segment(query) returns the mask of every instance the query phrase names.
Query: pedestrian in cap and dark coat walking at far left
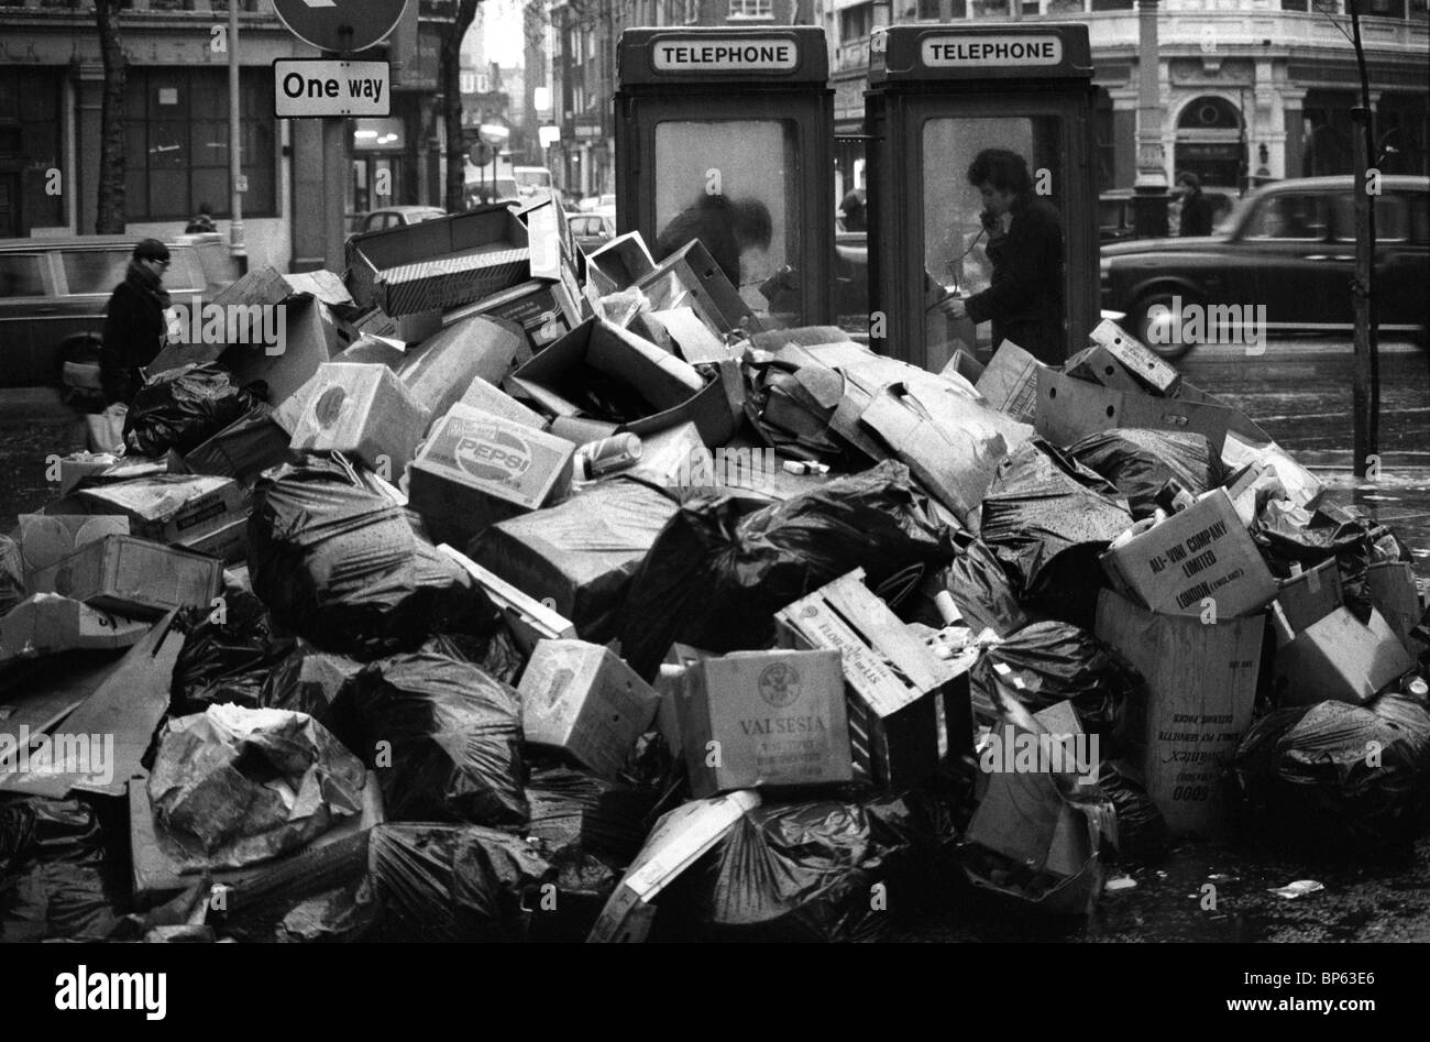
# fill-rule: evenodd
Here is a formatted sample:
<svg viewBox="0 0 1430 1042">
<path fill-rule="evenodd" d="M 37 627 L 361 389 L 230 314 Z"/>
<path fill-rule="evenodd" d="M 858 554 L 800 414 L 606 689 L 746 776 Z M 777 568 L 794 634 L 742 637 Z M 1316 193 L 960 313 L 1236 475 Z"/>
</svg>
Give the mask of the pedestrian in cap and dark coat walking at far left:
<svg viewBox="0 0 1430 1042">
<path fill-rule="evenodd" d="M 124 281 L 104 306 L 104 344 L 100 348 L 100 382 L 109 404 L 129 405 L 144 382 L 142 369 L 164 345 L 164 309 L 169 292 L 163 276 L 169 269 L 169 248 L 159 239 L 142 239 L 134 246 Z"/>
</svg>

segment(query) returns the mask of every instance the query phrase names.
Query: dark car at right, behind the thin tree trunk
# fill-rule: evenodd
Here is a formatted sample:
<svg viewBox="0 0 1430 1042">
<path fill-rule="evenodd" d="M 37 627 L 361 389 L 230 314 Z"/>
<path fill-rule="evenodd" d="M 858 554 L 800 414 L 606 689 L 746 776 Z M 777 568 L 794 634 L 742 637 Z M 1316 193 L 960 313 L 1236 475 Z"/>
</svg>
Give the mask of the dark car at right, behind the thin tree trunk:
<svg viewBox="0 0 1430 1042">
<path fill-rule="evenodd" d="M 1386 176 L 1376 202 L 1376 296 L 1381 335 L 1426 342 L 1430 328 L 1430 177 Z M 1103 246 L 1103 308 L 1158 345 L 1155 305 L 1266 306 L 1267 332 L 1350 335 L 1356 262 L 1350 176 L 1281 180 L 1253 192 L 1214 235 Z M 1164 312 L 1155 312 L 1161 315 Z M 1254 313 L 1254 312 L 1253 312 Z"/>
</svg>

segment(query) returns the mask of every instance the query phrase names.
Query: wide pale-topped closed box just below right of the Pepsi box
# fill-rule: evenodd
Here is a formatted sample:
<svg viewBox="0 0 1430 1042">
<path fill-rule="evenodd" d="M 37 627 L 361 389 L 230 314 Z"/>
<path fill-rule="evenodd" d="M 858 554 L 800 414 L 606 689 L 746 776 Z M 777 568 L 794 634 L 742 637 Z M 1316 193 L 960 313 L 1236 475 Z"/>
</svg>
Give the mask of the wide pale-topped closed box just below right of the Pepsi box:
<svg viewBox="0 0 1430 1042">
<path fill-rule="evenodd" d="M 559 507 L 493 524 L 475 560 L 572 620 L 585 636 L 611 621 L 631 575 L 678 511 L 672 497 L 612 478 Z"/>
</svg>

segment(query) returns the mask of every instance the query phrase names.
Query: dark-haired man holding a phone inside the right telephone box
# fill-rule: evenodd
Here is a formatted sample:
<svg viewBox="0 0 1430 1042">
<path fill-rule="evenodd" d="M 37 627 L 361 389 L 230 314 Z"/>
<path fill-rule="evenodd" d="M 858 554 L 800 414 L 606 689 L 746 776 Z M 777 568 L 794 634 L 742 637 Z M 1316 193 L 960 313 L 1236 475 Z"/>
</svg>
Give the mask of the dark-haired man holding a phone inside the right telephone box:
<svg viewBox="0 0 1430 1042">
<path fill-rule="evenodd" d="M 1032 192 L 1028 163 L 1007 149 L 984 149 L 968 167 L 982 195 L 992 281 L 938 306 L 951 318 L 992 322 L 992 345 L 1012 341 L 1040 362 L 1067 361 L 1062 335 L 1062 220 Z"/>
</svg>

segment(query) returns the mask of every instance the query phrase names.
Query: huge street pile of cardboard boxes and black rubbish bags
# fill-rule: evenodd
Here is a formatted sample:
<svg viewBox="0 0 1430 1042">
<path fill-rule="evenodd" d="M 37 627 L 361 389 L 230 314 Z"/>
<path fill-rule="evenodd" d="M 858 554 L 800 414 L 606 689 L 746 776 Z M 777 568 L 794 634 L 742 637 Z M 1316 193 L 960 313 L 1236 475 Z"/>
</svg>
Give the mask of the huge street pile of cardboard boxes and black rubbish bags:
<svg viewBox="0 0 1430 1042">
<path fill-rule="evenodd" d="M 1407 548 L 1115 325 L 931 374 L 543 199 L 217 303 L 280 349 L 0 537 L 0 939 L 858 940 L 1430 823 Z"/>
</svg>

